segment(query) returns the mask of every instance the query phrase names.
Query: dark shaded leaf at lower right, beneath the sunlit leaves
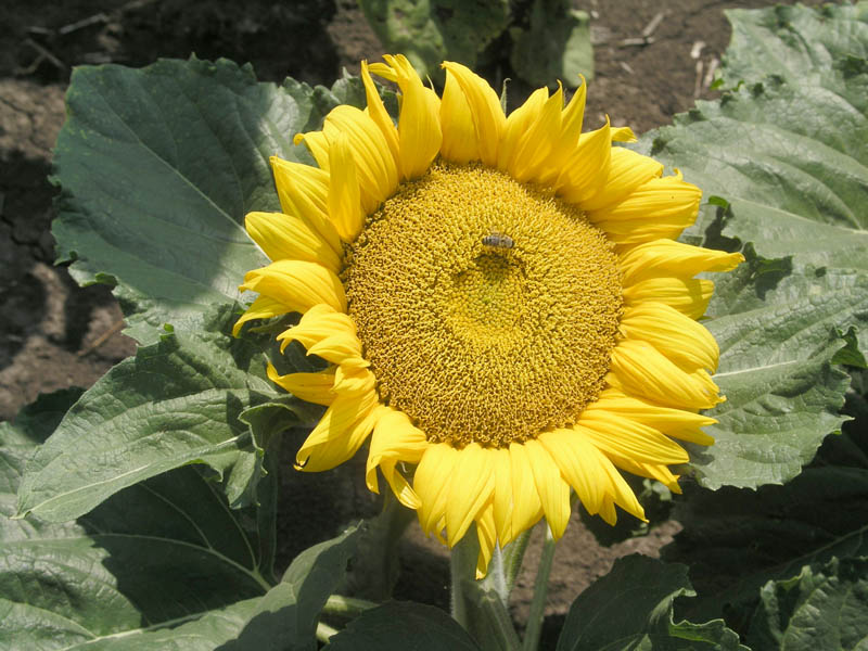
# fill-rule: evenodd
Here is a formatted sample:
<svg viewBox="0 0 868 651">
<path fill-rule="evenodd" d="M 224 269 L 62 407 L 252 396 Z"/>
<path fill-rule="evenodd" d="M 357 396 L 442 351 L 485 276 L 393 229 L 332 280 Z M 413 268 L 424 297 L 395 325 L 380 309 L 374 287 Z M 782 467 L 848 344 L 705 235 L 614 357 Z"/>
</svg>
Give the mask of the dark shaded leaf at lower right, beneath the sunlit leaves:
<svg viewBox="0 0 868 651">
<path fill-rule="evenodd" d="M 700 595 L 682 614 L 726 613 L 744 631 L 769 580 L 835 557 L 868 556 L 868 404 L 851 392 L 845 412 L 856 418 L 844 433 L 828 437 L 810 467 L 783 486 L 686 486 L 675 510 L 684 529 L 663 550 L 666 560 L 690 565 Z"/>
</svg>

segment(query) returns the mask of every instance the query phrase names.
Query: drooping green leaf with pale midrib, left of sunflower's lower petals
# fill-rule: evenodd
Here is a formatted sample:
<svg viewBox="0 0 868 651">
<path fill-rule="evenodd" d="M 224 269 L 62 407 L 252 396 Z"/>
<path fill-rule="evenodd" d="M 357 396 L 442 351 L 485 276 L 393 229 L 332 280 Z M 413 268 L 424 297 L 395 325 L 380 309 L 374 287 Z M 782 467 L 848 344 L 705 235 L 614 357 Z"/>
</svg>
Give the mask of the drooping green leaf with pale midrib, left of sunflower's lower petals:
<svg viewBox="0 0 868 651">
<path fill-rule="evenodd" d="M 232 315 L 221 317 L 227 328 Z M 188 463 L 206 463 L 224 477 L 233 507 L 252 503 L 269 443 L 264 431 L 279 433 L 310 413 L 279 394 L 264 367 L 253 345 L 222 332 L 166 333 L 140 348 L 99 380 L 34 455 L 18 515 L 73 520 L 122 488 Z M 267 427 L 251 411 L 266 406 Z"/>
</svg>

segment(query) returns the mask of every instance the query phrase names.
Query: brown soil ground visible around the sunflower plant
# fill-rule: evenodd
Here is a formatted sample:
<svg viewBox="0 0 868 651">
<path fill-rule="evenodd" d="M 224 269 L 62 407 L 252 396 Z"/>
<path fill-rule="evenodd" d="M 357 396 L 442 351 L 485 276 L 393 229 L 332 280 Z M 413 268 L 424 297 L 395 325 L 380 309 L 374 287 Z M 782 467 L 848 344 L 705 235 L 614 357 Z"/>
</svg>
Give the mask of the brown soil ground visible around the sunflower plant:
<svg viewBox="0 0 868 651">
<path fill-rule="evenodd" d="M 596 77 L 586 125 L 596 128 L 608 114 L 613 125 L 641 133 L 669 124 L 697 98 L 713 98 L 709 84 L 730 34 L 723 11 L 768 4 L 575 1 L 592 17 Z M 648 42 L 629 44 L 659 13 L 662 21 Z M 71 68 L 105 62 L 142 66 L 191 52 L 250 61 L 263 80 L 290 75 L 328 86 L 342 67 L 357 73 L 360 59 L 378 60 L 383 49 L 353 0 L 5 0 L 0 7 L 0 420 L 14 418 L 39 393 L 90 386 L 135 353 L 133 342 L 120 333 L 123 315 L 111 292 L 79 288 L 64 267 L 53 266 L 49 229 L 55 191 L 48 177 Z M 510 76 L 508 69 L 498 74 Z M 510 87 L 513 100 L 526 92 L 521 82 Z M 279 570 L 343 523 L 376 513 L 375 496 L 358 480 L 362 474 L 358 463 L 319 475 L 283 473 Z M 656 556 L 678 531 L 667 522 L 647 537 L 601 547 L 577 515 L 573 520 L 558 545 L 542 648 L 553 647 L 571 601 L 615 558 L 634 551 Z M 513 593 L 519 624 L 529 603 L 536 538 L 538 531 Z M 413 524 L 400 558 L 396 597 L 448 608 L 444 548 Z"/>
</svg>

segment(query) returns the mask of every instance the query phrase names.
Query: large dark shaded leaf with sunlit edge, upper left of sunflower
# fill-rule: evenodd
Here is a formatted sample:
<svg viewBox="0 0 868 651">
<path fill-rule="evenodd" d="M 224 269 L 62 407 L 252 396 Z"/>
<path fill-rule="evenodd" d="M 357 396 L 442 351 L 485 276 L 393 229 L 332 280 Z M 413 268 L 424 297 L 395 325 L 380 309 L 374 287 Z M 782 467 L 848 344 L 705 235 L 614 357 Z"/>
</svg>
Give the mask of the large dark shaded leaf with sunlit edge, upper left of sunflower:
<svg viewBox="0 0 868 651">
<path fill-rule="evenodd" d="M 357 103 L 359 86 L 258 84 L 226 60 L 76 68 L 54 152 L 59 258 L 80 283 L 117 284 L 141 342 L 165 322 L 197 327 L 268 261 L 243 219 L 280 209 L 269 156 L 311 162 L 293 136 Z"/>
</svg>

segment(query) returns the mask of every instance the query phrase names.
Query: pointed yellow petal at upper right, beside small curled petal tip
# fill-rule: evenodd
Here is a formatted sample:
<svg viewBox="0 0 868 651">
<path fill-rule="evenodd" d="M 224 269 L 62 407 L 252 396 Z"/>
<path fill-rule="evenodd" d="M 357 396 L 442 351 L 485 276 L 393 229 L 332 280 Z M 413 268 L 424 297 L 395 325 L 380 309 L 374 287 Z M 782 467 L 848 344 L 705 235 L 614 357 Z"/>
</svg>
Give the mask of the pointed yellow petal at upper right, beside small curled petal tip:
<svg viewBox="0 0 868 651">
<path fill-rule="evenodd" d="M 602 191 L 612 159 L 612 138 L 609 117 L 596 131 L 583 133 L 578 145 L 566 159 L 556 188 L 564 200 L 582 205 Z"/>
</svg>

